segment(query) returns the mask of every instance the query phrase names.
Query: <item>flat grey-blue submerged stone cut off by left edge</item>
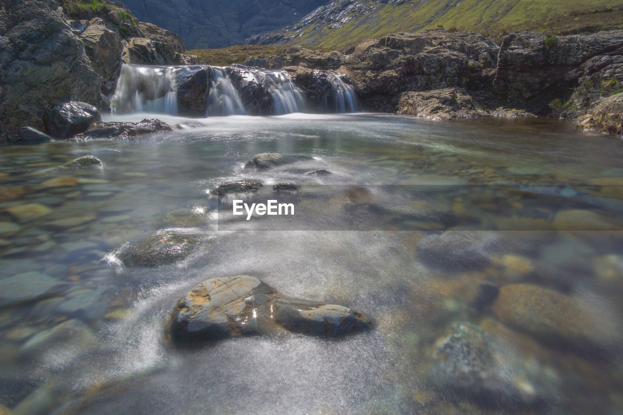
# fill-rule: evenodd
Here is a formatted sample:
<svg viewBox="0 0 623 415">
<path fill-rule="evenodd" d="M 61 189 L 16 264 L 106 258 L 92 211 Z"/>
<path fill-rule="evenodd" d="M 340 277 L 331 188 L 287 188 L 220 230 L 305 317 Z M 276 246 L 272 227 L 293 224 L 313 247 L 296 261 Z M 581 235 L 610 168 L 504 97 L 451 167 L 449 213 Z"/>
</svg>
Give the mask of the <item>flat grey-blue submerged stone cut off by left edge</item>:
<svg viewBox="0 0 623 415">
<path fill-rule="evenodd" d="M 60 281 L 39 272 L 0 279 L 0 307 L 11 307 L 54 295 Z"/>
</svg>

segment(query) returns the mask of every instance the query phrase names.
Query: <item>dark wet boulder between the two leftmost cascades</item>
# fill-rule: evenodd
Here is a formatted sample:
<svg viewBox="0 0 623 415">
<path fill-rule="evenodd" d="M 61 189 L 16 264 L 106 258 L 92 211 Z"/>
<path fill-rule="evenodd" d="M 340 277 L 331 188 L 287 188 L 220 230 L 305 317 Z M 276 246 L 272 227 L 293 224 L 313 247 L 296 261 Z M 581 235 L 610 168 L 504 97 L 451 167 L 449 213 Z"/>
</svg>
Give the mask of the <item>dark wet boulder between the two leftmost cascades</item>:
<svg viewBox="0 0 623 415">
<path fill-rule="evenodd" d="M 178 84 L 178 113 L 189 117 L 205 117 L 210 90 L 210 67 L 187 66 L 176 71 Z"/>
</svg>

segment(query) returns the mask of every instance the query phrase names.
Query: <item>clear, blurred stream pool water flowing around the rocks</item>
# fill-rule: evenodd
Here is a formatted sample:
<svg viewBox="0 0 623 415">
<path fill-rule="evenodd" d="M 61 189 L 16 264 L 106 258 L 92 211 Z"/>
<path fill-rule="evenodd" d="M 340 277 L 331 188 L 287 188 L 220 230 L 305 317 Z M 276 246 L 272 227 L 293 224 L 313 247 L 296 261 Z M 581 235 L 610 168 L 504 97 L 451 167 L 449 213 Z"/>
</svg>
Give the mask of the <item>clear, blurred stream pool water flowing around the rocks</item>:
<svg viewBox="0 0 623 415">
<path fill-rule="evenodd" d="M 534 247 L 521 253 L 520 264 L 527 260 L 545 272 L 525 280 L 518 275 L 521 266 L 500 260 L 499 251 L 484 252 L 492 265 L 478 271 L 423 264 L 416 246 L 437 229 L 436 219 L 419 219 L 420 230 L 412 231 L 385 225 L 369 231 L 291 231 L 278 222 L 270 231 L 222 231 L 207 194 L 240 178 L 259 179 L 265 189 L 283 181 L 353 185 L 366 201 L 385 209 L 422 211 L 439 205 L 459 216 L 493 212 L 546 224 L 553 223 L 562 198 L 574 209 L 605 218 L 614 229 L 623 212 L 616 186 L 623 178 L 620 140 L 584 135 L 572 123 L 547 119 L 428 122 L 373 114 L 162 119 L 179 129 L 131 141 L 0 150 L 1 278 L 39 272 L 57 282 L 44 298 L 0 308 L 3 406 L 42 414 L 623 411 L 623 368 L 616 348 L 606 361 L 560 350 L 470 305 L 483 280 L 530 282 L 588 298 L 601 307 L 602 320 L 608 320 L 604 325 L 614 322 L 619 328 L 621 232 L 495 231 L 485 225 L 502 236 L 502 245 L 521 240 Z M 243 169 L 253 155 L 267 151 L 314 160 L 263 173 Z M 97 156 L 105 168 L 45 171 L 82 155 Z M 319 168 L 333 174 L 305 175 Z M 432 193 L 409 204 L 373 190 L 389 184 L 427 185 Z M 507 194 L 457 196 L 444 190 L 450 184 L 463 190 L 492 186 L 494 192 L 498 185 L 555 184 L 571 193 L 536 206 Z M 369 194 L 361 191 L 366 186 Z M 586 198 L 577 196 L 578 189 Z M 331 194 L 328 201 L 309 201 L 308 212 L 343 209 L 349 200 L 350 193 Z M 44 207 L 38 208 L 40 216 L 20 221 L 11 213 L 34 203 Z M 178 209 L 186 209 L 186 216 L 172 221 L 169 213 Z M 207 242 L 176 265 L 127 269 L 115 264 L 119 246 L 169 227 L 192 228 Z M 294 335 L 226 340 L 192 351 L 169 346 L 164 327 L 181 295 L 202 280 L 239 274 L 255 275 L 286 295 L 353 307 L 373 317 L 377 327 L 338 341 Z M 10 300 L 6 295 L 0 293 L 4 304 Z M 72 319 L 85 327 L 78 324 L 54 341 L 34 341 L 37 333 Z M 427 371 L 435 341 L 452 322 L 465 321 L 516 350 L 526 370 L 551 374 L 556 392 L 530 408 L 502 404 L 500 409 L 495 399 L 483 403 L 488 398 L 456 398 L 433 389 Z"/>
</svg>

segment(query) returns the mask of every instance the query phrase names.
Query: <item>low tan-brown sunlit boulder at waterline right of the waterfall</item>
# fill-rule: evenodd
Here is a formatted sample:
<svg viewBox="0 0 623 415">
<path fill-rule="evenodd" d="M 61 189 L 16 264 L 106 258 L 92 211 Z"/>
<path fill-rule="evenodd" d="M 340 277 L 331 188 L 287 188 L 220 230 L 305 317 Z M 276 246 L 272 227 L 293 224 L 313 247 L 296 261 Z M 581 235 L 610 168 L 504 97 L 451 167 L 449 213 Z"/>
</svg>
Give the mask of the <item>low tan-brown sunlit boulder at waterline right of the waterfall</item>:
<svg viewBox="0 0 623 415">
<path fill-rule="evenodd" d="M 486 115 L 473 102 L 464 88 L 446 88 L 425 92 L 403 92 L 400 95 L 396 113 L 417 115 L 432 120 L 448 118 L 472 118 Z"/>
</svg>

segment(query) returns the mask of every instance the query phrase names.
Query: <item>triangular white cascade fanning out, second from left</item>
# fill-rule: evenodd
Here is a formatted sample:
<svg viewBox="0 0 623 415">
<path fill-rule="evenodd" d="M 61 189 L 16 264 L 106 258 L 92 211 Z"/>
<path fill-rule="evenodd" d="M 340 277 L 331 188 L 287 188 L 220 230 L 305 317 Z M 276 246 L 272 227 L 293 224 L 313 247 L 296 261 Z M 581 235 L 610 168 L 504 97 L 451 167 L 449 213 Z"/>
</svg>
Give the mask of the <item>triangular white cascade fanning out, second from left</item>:
<svg viewBox="0 0 623 415">
<path fill-rule="evenodd" d="M 220 67 L 211 68 L 210 92 L 207 97 L 209 115 L 245 115 L 240 95 L 225 72 Z"/>
</svg>

